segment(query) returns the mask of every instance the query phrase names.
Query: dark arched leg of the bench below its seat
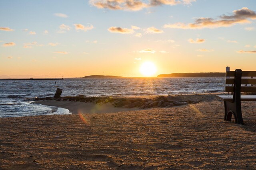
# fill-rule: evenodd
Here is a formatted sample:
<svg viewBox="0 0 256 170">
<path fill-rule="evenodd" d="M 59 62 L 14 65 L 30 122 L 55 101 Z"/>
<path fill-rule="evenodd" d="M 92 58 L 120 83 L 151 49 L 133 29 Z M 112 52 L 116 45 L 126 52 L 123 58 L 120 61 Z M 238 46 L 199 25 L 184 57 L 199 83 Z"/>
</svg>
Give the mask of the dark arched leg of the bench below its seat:
<svg viewBox="0 0 256 170">
<path fill-rule="evenodd" d="M 240 103 L 224 101 L 224 107 L 225 107 L 225 115 L 224 115 L 225 121 L 231 121 L 231 117 L 232 115 L 234 115 L 236 123 L 240 123 L 242 125 L 244 124 Z"/>
</svg>

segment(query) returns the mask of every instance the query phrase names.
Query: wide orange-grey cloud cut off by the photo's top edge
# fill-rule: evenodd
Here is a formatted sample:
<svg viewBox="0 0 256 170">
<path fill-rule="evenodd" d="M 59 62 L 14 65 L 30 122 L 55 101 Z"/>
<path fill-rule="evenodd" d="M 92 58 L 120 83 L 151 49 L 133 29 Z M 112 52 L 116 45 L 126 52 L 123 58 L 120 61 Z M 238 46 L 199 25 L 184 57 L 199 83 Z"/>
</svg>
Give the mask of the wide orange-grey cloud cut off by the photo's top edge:
<svg viewBox="0 0 256 170">
<path fill-rule="evenodd" d="M 89 3 L 97 8 L 105 8 L 109 10 L 130 10 L 138 11 L 143 8 L 150 8 L 153 6 L 162 5 L 178 5 L 178 4 L 191 4 L 196 0 L 90 0 Z"/>
</svg>

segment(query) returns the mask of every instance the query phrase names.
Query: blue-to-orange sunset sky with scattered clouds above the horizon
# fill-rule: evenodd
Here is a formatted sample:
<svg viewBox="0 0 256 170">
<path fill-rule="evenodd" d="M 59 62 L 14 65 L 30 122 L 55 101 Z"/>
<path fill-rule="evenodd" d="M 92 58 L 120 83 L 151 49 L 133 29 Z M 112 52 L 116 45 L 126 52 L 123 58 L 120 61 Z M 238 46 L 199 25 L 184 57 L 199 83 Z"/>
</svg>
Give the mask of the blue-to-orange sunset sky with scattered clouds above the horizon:
<svg viewBox="0 0 256 170">
<path fill-rule="evenodd" d="M 0 78 L 256 70 L 255 37 L 256 0 L 0 0 Z"/>
</svg>

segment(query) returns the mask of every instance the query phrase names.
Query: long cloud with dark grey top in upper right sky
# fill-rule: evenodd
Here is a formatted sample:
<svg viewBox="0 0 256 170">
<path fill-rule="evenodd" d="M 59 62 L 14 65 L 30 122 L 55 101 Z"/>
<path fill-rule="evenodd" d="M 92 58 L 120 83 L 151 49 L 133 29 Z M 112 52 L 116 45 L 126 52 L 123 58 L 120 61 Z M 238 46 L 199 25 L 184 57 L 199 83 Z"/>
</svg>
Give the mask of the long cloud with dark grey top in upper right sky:
<svg viewBox="0 0 256 170">
<path fill-rule="evenodd" d="M 194 23 L 174 23 L 165 24 L 165 28 L 179 28 L 179 29 L 202 29 L 202 28 L 218 28 L 230 27 L 235 24 L 251 23 L 248 19 L 255 20 L 256 13 L 246 7 L 240 10 L 234 10 L 233 15 L 222 15 L 219 19 L 213 18 L 198 18 Z"/>
</svg>

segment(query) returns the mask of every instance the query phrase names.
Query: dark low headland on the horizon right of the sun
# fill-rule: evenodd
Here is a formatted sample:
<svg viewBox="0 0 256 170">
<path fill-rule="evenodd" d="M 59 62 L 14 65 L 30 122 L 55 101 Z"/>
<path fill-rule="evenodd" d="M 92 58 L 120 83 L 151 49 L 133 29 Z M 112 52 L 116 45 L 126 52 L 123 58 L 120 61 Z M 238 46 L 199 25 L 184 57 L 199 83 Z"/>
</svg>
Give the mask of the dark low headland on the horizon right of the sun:
<svg viewBox="0 0 256 170">
<path fill-rule="evenodd" d="M 159 74 L 157 77 L 224 77 L 226 72 L 188 72 L 188 73 L 172 73 Z"/>
</svg>

